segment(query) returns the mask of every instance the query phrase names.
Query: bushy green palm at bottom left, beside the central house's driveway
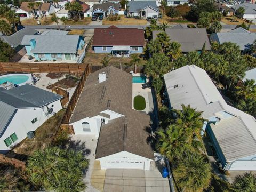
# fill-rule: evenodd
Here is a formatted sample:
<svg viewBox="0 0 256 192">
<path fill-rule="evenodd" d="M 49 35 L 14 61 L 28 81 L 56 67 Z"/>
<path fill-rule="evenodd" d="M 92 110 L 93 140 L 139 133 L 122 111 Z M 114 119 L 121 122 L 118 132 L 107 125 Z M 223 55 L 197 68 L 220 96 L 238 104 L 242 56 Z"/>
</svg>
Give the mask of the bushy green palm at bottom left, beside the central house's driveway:
<svg viewBox="0 0 256 192">
<path fill-rule="evenodd" d="M 88 165 L 89 161 L 82 151 L 48 146 L 28 158 L 26 171 L 29 181 L 38 189 L 82 191 L 86 188 L 82 181 L 83 171 Z"/>
</svg>

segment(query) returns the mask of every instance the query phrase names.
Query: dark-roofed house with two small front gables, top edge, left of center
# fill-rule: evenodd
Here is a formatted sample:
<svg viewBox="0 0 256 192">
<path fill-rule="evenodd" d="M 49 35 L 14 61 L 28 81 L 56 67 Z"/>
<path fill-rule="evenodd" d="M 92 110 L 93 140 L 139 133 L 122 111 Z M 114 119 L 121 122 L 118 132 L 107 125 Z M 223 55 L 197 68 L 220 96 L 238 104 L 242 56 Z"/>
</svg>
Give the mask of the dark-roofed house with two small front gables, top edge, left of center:
<svg viewBox="0 0 256 192">
<path fill-rule="evenodd" d="M 102 4 L 94 4 L 92 15 L 103 15 L 103 17 L 107 17 L 108 15 L 119 14 L 119 3 L 102 3 Z"/>
</svg>

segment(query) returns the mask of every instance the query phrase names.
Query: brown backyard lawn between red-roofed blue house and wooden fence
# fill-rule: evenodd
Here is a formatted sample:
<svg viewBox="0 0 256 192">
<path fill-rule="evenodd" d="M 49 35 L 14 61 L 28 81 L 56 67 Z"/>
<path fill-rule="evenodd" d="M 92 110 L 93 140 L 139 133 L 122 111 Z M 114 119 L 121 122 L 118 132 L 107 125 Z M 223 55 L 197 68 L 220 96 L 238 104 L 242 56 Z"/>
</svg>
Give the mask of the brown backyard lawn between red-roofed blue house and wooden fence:
<svg viewBox="0 0 256 192">
<path fill-rule="evenodd" d="M 130 63 L 131 58 L 113 58 L 108 53 L 87 53 L 86 57 L 84 58 L 84 63 L 90 64 L 90 65 L 102 65 L 100 62 L 104 57 L 107 57 L 109 59 L 109 65 L 119 65 Z M 145 64 L 146 60 L 141 60 L 141 65 Z"/>
</svg>

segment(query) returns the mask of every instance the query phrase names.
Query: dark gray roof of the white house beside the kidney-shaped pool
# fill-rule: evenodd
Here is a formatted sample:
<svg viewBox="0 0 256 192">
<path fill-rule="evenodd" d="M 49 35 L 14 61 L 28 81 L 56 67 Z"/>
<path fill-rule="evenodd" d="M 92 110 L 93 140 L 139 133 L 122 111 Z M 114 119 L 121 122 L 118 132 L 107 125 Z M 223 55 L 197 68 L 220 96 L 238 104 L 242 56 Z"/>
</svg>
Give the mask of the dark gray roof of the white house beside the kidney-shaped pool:
<svg viewBox="0 0 256 192">
<path fill-rule="evenodd" d="M 10 90 L 0 89 L 0 133 L 16 109 L 38 108 L 61 98 L 61 95 L 32 85 L 22 85 Z"/>
</svg>

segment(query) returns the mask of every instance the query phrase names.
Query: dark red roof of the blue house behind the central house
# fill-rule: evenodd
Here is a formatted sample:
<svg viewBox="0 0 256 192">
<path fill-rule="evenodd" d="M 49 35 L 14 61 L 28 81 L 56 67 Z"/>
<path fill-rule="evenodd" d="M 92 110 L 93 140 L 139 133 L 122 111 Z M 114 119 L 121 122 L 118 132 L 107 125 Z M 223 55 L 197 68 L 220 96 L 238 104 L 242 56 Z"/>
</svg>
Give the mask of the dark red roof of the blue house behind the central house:
<svg viewBox="0 0 256 192">
<path fill-rule="evenodd" d="M 144 30 L 136 28 L 95 28 L 92 46 L 144 46 Z"/>
</svg>

